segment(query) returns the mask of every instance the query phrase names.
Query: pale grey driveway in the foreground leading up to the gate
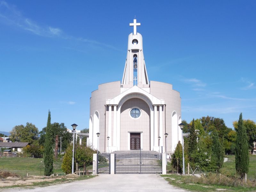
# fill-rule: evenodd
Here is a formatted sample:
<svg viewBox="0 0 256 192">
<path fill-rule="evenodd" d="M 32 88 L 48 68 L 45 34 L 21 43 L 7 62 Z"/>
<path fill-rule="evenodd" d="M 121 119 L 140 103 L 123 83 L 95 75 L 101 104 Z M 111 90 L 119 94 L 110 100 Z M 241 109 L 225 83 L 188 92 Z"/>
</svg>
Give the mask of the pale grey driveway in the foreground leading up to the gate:
<svg viewBox="0 0 256 192">
<path fill-rule="evenodd" d="M 0 189 L 1 191 L 1 189 Z M 113 174 L 99 175 L 98 177 L 52 185 L 36 187 L 34 189 L 5 189 L 4 192 L 185 192 L 183 189 L 169 185 L 166 180 L 156 174 Z"/>
</svg>

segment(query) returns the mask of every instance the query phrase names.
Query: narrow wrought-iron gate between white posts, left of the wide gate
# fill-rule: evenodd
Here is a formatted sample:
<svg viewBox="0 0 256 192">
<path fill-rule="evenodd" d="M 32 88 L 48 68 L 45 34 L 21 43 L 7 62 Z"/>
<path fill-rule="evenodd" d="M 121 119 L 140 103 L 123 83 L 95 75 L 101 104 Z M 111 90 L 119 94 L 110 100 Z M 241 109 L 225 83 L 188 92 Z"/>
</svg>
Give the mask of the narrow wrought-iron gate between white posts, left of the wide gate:
<svg viewBox="0 0 256 192">
<path fill-rule="evenodd" d="M 110 154 L 97 154 L 97 174 L 110 174 Z"/>
</svg>

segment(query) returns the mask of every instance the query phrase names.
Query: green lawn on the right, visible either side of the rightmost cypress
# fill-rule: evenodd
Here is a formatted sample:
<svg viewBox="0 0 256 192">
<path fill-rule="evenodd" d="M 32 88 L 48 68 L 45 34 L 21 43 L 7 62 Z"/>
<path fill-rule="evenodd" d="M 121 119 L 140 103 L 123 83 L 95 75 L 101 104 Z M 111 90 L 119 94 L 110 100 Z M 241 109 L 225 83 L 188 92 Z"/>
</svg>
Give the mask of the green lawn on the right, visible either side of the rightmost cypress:
<svg viewBox="0 0 256 192">
<path fill-rule="evenodd" d="M 228 155 L 228 161 L 223 163 L 220 173 L 227 176 L 236 175 L 236 162 L 235 155 Z M 247 173 L 247 179 L 254 180 L 256 176 L 256 155 L 250 155 L 249 172 Z"/>
</svg>

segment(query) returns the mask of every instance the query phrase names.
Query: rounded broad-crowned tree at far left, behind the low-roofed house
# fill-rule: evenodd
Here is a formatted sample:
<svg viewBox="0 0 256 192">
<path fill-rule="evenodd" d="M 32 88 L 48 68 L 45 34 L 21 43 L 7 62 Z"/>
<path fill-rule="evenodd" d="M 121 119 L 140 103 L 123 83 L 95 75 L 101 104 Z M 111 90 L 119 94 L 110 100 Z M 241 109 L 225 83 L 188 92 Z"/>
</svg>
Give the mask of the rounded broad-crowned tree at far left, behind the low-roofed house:
<svg viewBox="0 0 256 192">
<path fill-rule="evenodd" d="M 29 142 L 33 143 L 38 139 L 38 129 L 36 125 L 27 123 L 24 125 L 16 125 L 10 132 L 10 140 L 12 142 Z"/>
</svg>

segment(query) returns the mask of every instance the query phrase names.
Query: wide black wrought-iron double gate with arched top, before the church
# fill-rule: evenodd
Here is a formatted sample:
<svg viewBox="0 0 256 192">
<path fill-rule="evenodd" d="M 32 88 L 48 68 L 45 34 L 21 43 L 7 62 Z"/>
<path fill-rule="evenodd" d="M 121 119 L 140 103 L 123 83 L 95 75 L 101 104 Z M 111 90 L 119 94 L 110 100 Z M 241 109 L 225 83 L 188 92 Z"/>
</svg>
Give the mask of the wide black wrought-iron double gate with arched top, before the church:
<svg viewBox="0 0 256 192">
<path fill-rule="evenodd" d="M 162 173 L 162 154 L 132 151 L 115 154 L 115 174 Z"/>
</svg>

